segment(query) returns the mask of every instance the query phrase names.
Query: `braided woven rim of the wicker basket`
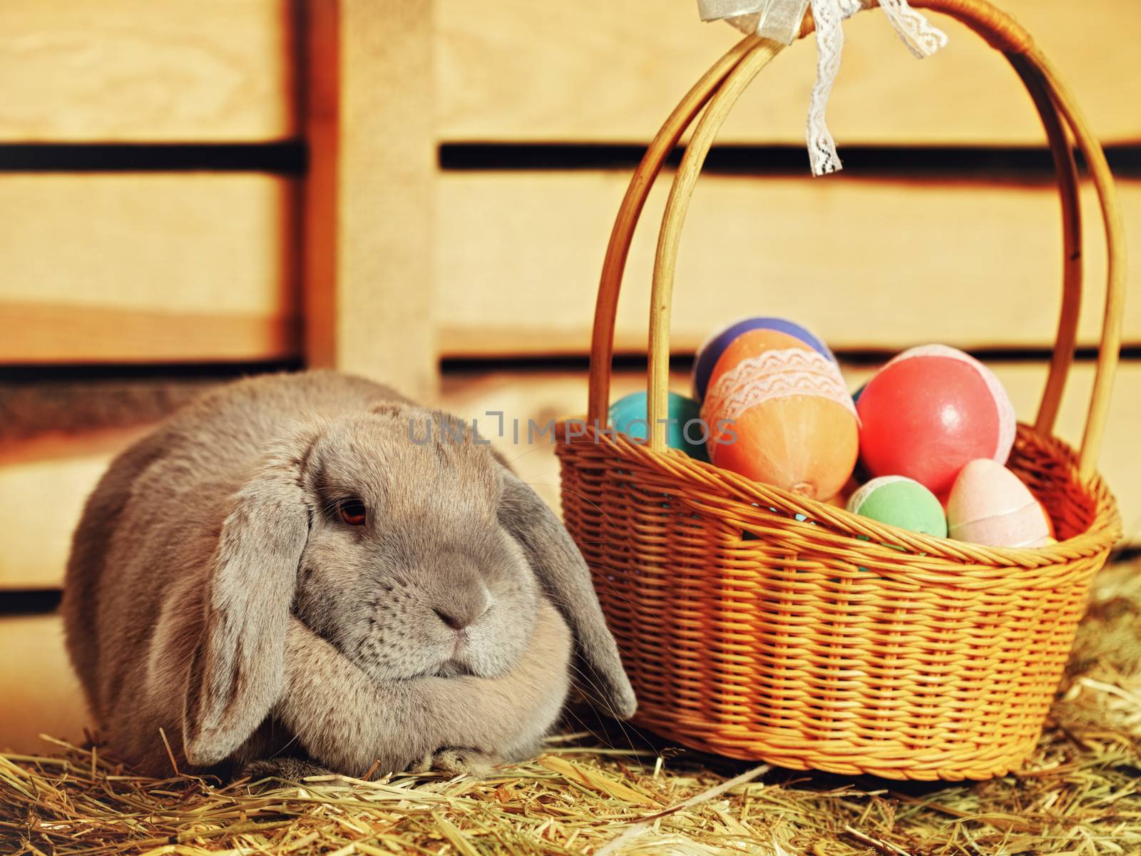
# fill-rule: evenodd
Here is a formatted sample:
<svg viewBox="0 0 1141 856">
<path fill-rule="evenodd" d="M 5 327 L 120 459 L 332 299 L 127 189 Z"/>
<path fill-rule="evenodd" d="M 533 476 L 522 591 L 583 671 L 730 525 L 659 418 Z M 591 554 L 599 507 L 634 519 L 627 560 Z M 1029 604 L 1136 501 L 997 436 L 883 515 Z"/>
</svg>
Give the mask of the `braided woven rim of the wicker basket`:
<svg viewBox="0 0 1141 856">
<path fill-rule="evenodd" d="M 702 503 L 695 501 L 693 496 L 702 493 L 704 488 L 711 499 L 715 499 L 722 506 L 727 501 L 736 503 L 741 511 L 739 519 L 745 526 L 750 525 L 750 518 L 754 518 L 758 528 L 763 530 L 763 518 L 771 516 L 767 514 L 768 509 L 771 509 L 782 517 L 780 528 L 802 527 L 801 531 L 811 534 L 814 540 L 834 541 L 837 549 L 865 555 L 877 565 L 896 564 L 893 559 L 898 562 L 906 558 L 906 564 L 898 563 L 900 570 L 920 572 L 922 559 L 929 559 L 928 571 L 938 574 L 942 582 L 946 582 L 948 565 L 972 565 L 1005 571 L 1025 568 L 1038 574 L 1051 566 L 1066 568 L 1074 560 L 1103 555 L 1120 538 L 1122 524 L 1117 501 L 1100 473 L 1094 471 L 1086 479 L 1081 479 L 1078 455 L 1073 446 L 1058 437 L 1043 437 L 1025 422 L 1018 425 L 1015 449 L 1018 443 L 1027 441 L 1045 446 L 1054 458 L 1067 465 L 1068 473 L 1065 477 L 1068 477 L 1073 486 L 1082 490 L 1095 504 L 1093 525 L 1089 530 L 1047 547 L 987 547 L 911 532 L 855 515 L 827 502 L 793 494 L 775 485 L 754 482 L 731 470 L 690 458 L 677 449 L 655 452 L 648 442 L 634 442 L 609 430 L 596 431 L 592 427 L 584 427 L 585 433 L 582 436 L 567 441 L 566 426 L 574 419 L 576 418 L 572 417 L 557 423 L 556 437 L 559 446 L 581 443 L 606 445 L 622 458 L 656 469 L 663 479 L 685 485 L 685 493 L 672 498 L 678 502 L 701 508 Z M 760 503 L 764 503 L 768 508 Z M 814 523 L 795 520 L 793 515 L 796 514 L 804 515 Z M 820 526 L 817 523 L 825 525 Z M 860 538 L 861 535 L 864 538 Z M 917 562 L 921 565 L 917 565 Z M 1039 579 L 1038 582 L 1044 581 Z"/>
</svg>

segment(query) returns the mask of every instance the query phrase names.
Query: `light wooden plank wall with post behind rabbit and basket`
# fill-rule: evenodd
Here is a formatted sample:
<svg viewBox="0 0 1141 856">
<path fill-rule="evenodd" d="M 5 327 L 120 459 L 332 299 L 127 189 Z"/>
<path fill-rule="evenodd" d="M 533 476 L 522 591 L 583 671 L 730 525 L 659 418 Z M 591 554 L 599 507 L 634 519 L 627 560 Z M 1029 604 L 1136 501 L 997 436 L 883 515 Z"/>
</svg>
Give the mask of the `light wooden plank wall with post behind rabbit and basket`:
<svg viewBox="0 0 1141 856">
<path fill-rule="evenodd" d="M 1002 5 L 1109 144 L 1141 244 L 1141 58 L 1104 40 L 1135 43 L 1141 5 L 1087 0 L 1076 18 L 1071 0 Z M 693 6 L 6 0 L 0 417 L 35 385 L 209 383 L 302 364 L 395 381 L 466 415 L 582 411 L 625 183 L 737 38 Z M 1060 302 L 1049 159 L 1002 57 L 947 31 L 950 47 L 917 62 L 879 13 L 849 22 L 828 114 L 849 169 L 825 179 L 808 176 L 802 143 L 815 49 L 794 46 L 764 71 L 686 226 L 680 361 L 725 320 L 787 315 L 855 361 L 853 387 L 873 352 L 982 350 L 1033 418 Z M 663 200 L 655 189 L 631 255 L 616 331 L 626 355 L 645 350 Z M 1086 237 L 1082 360 L 1059 426 L 1071 441 L 1103 291 L 1097 229 Z M 1125 345 L 1102 469 L 1141 543 L 1141 301 L 1127 301 Z M 637 366 L 620 373 L 615 395 L 641 382 Z M 80 737 L 86 722 L 57 620 L 10 613 L 50 606 L 86 493 L 156 415 L 98 410 L 66 433 L 0 425 L 0 748 L 30 748 L 44 729 Z M 549 447 L 503 451 L 556 500 Z"/>
</svg>

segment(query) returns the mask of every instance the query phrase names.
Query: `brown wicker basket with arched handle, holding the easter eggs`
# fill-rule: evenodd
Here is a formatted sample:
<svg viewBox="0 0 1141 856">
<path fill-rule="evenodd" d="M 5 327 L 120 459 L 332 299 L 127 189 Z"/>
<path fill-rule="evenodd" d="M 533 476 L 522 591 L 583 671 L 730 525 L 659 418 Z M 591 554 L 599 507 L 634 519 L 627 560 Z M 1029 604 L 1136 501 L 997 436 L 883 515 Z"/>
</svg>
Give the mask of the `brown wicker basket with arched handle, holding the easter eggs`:
<svg viewBox="0 0 1141 856">
<path fill-rule="evenodd" d="M 1061 321 L 1037 421 L 1019 427 L 1010 466 L 1049 509 L 1060 543 L 1000 549 L 913 534 L 665 446 L 656 421 L 665 410 L 681 227 L 718 128 L 782 49 L 756 37 L 742 40 L 686 95 L 633 176 L 602 268 L 588 429 L 577 437 L 564 430 L 557 451 L 566 523 L 622 648 L 639 725 L 695 749 L 799 769 L 989 778 L 1018 768 L 1034 746 L 1091 579 L 1119 536 L 1115 501 L 1094 463 L 1117 364 L 1124 250 L 1104 154 L 1029 35 L 982 0 L 912 2 L 958 19 L 1003 51 L 1053 152 L 1065 234 Z M 810 21 L 801 35 L 809 32 Z M 658 237 L 648 379 L 654 431 L 639 445 L 597 430 L 606 425 L 615 308 L 650 185 L 695 120 Z M 1098 192 L 1109 250 L 1081 453 L 1051 436 L 1081 304 L 1075 144 Z M 808 519 L 798 522 L 798 514 Z"/>
</svg>

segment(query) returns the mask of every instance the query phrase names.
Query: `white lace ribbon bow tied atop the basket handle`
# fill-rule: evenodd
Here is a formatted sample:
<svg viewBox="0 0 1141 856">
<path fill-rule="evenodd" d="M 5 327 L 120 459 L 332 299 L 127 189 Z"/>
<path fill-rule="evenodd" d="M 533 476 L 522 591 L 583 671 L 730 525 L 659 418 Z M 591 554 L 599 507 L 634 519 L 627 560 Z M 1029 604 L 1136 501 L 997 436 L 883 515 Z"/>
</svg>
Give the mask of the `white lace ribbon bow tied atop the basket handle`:
<svg viewBox="0 0 1141 856">
<path fill-rule="evenodd" d="M 702 21 L 728 21 L 744 32 L 791 45 L 810 3 L 816 23 L 817 60 L 816 83 L 808 106 L 808 156 L 812 175 L 823 176 L 841 169 L 836 144 L 825 121 L 844 47 L 841 22 L 860 9 L 880 6 L 899 38 L 921 58 L 944 47 L 947 35 L 908 6 L 907 0 L 697 0 L 697 9 Z"/>
</svg>

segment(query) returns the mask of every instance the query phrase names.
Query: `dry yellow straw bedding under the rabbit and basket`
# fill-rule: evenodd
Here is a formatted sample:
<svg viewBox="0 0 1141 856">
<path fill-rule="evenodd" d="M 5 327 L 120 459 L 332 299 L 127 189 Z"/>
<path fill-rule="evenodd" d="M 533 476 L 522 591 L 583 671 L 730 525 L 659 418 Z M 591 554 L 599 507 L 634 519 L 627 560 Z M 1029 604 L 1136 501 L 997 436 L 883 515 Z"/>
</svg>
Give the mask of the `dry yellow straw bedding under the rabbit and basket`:
<svg viewBox="0 0 1141 856">
<path fill-rule="evenodd" d="M 1141 854 L 1141 570 L 1099 578 L 1018 775 L 844 780 L 580 733 L 485 780 L 133 776 L 97 749 L 0 756 L 0 854 Z"/>
</svg>

